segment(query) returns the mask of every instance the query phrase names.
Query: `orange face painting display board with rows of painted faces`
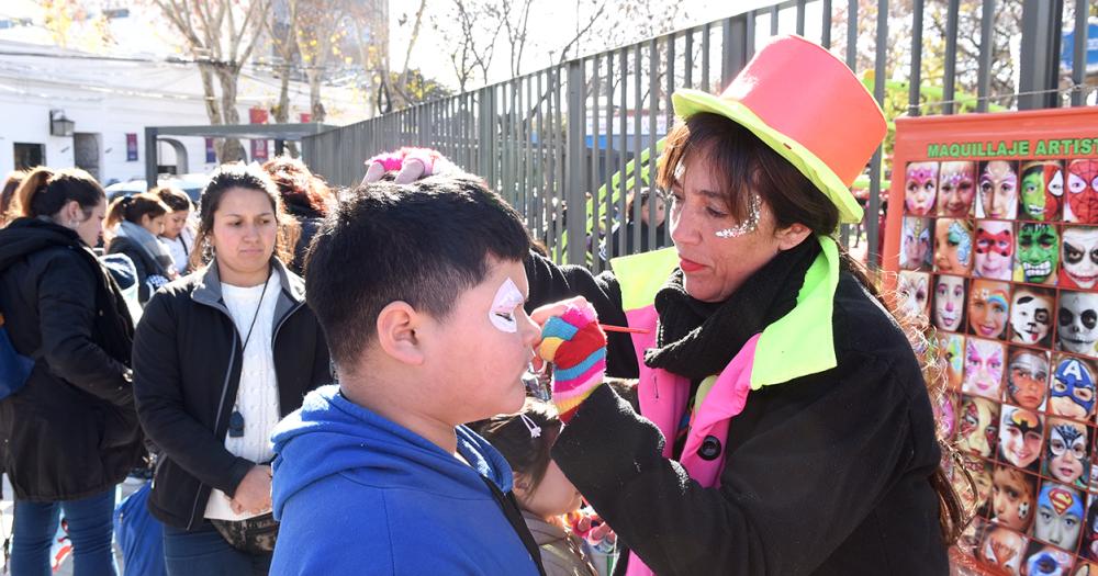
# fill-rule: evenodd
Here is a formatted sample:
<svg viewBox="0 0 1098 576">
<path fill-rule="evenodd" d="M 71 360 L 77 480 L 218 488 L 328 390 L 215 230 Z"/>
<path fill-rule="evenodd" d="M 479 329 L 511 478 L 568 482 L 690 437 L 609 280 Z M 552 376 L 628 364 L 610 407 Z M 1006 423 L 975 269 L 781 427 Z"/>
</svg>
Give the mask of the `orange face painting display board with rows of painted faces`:
<svg viewBox="0 0 1098 576">
<path fill-rule="evenodd" d="M 946 360 L 978 486 L 961 551 L 1098 574 L 1098 110 L 896 121 L 884 253 Z"/>
</svg>

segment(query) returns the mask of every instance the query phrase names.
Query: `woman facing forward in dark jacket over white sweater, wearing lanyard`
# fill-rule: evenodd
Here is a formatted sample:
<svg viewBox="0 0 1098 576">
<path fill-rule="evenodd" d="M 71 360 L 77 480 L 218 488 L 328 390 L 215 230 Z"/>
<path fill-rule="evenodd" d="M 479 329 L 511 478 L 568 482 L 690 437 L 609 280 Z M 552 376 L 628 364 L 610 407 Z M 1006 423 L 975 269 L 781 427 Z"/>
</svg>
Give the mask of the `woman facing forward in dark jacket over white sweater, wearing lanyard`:
<svg viewBox="0 0 1098 576">
<path fill-rule="evenodd" d="M 163 451 L 149 509 L 169 575 L 266 574 L 271 429 L 329 382 L 328 351 L 282 264 L 293 222 L 267 174 L 223 167 L 201 206 L 197 271 L 153 297 L 134 342 L 138 415 Z"/>
</svg>

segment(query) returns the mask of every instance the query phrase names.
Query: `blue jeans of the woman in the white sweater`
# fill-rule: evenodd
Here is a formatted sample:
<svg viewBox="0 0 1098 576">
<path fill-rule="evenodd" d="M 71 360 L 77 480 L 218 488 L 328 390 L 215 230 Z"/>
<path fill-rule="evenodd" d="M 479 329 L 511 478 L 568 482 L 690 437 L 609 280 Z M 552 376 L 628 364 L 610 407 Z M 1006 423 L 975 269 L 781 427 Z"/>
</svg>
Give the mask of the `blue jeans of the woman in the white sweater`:
<svg viewBox="0 0 1098 576">
<path fill-rule="evenodd" d="M 271 556 L 253 556 L 228 545 L 209 521 L 194 530 L 164 524 L 164 564 L 168 576 L 266 576 Z"/>
</svg>

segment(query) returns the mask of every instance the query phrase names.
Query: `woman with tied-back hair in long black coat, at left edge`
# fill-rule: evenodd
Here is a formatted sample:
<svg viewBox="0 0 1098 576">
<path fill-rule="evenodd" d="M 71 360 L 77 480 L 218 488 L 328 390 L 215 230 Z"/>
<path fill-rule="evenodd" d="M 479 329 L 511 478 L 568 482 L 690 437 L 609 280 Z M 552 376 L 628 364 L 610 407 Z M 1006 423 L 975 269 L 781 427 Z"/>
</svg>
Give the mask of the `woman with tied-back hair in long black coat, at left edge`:
<svg viewBox="0 0 1098 576">
<path fill-rule="evenodd" d="M 15 350 L 34 360 L 0 402 L 4 468 L 15 489 L 11 571 L 49 574 L 64 510 L 77 575 L 114 574 L 114 487 L 141 462 L 130 349 L 133 325 L 90 246 L 107 200 L 82 170 L 37 168 L 0 230 L 0 310 Z"/>
</svg>

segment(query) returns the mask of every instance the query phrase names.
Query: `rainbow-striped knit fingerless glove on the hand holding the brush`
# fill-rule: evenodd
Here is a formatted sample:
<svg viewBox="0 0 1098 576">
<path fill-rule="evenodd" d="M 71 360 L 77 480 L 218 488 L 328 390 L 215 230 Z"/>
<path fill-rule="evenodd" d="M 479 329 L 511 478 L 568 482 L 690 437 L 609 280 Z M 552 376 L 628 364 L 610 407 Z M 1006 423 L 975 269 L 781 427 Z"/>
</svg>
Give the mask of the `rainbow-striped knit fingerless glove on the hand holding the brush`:
<svg viewBox="0 0 1098 576">
<path fill-rule="evenodd" d="M 571 304 L 541 328 L 538 355 L 553 364 L 552 402 L 562 422 L 603 383 L 606 375 L 606 332 L 591 304 Z"/>
</svg>

